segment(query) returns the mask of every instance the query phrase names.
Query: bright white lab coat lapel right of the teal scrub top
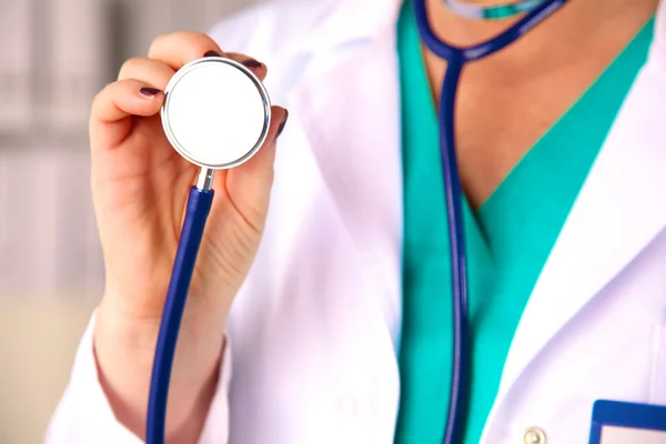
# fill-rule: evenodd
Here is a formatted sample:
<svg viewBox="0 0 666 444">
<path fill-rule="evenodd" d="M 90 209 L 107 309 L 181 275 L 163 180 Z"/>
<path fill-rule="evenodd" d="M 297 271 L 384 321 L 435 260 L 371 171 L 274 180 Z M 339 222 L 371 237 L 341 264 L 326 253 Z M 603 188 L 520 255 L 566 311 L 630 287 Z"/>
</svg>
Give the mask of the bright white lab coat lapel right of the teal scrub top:
<svg viewBox="0 0 666 444">
<path fill-rule="evenodd" d="M 567 321 L 666 226 L 664 4 L 658 23 L 648 63 L 629 92 L 527 303 L 507 356 L 498 403 Z"/>
</svg>

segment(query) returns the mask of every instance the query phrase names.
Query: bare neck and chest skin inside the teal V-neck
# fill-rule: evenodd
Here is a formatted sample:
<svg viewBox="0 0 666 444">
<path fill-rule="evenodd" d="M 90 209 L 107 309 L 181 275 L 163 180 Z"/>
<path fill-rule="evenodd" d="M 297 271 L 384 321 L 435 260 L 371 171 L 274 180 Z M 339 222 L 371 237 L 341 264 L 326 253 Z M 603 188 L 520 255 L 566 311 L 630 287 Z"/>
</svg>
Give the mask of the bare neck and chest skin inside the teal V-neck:
<svg viewBox="0 0 666 444">
<path fill-rule="evenodd" d="M 657 3 L 569 0 L 523 39 L 465 68 L 456 102 L 456 150 L 463 189 L 474 208 L 622 52 Z M 427 0 L 427 6 L 438 37 L 458 46 L 492 38 L 516 21 L 466 20 L 441 0 Z M 446 63 L 427 50 L 424 59 L 433 97 L 440 97 Z"/>
</svg>

